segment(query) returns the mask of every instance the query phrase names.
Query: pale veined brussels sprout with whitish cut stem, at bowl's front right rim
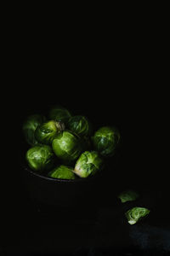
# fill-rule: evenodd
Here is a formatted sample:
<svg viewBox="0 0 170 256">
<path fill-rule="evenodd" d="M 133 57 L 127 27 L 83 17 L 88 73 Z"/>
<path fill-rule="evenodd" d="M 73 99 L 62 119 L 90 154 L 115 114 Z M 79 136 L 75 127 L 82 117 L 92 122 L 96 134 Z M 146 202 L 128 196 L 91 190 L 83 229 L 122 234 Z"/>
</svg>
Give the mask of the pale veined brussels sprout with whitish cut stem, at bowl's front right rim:
<svg viewBox="0 0 170 256">
<path fill-rule="evenodd" d="M 94 175 L 103 168 L 103 160 L 96 151 L 85 151 L 77 160 L 74 171 L 79 177 Z"/>
</svg>

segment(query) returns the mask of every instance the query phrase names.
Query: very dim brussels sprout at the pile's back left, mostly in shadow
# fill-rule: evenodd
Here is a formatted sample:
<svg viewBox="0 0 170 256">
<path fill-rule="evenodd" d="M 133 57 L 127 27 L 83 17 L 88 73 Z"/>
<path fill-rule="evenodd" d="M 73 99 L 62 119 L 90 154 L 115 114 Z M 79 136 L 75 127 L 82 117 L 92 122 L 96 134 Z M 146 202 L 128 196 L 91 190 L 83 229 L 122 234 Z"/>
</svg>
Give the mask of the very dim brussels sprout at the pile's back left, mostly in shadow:
<svg viewBox="0 0 170 256">
<path fill-rule="evenodd" d="M 23 122 L 22 131 L 29 145 L 34 146 L 38 143 L 35 138 L 35 131 L 37 126 L 42 125 L 43 122 L 45 122 L 45 117 L 41 114 L 32 114 Z"/>
</svg>

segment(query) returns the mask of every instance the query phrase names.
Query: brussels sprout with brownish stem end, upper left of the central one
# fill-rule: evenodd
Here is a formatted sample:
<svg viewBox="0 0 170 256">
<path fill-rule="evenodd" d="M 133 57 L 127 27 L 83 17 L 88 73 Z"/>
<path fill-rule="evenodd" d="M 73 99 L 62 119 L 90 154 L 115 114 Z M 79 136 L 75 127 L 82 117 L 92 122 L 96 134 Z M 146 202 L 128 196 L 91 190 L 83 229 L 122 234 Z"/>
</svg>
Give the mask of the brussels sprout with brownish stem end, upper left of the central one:
<svg viewBox="0 0 170 256">
<path fill-rule="evenodd" d="M 64 123 L 50 120 L 37 126 L 35 137 L 39 143 L 51 145 L 54 137 L 63 130 L 65 130 Z"/>
</svg>

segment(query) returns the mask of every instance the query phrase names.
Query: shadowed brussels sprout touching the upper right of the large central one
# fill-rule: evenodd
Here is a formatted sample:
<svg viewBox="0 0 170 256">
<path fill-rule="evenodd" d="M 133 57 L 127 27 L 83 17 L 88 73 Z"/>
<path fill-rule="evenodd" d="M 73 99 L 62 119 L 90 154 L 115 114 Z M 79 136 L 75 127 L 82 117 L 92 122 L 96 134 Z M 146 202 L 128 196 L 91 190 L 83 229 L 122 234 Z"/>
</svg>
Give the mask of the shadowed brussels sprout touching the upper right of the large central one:
<svg viewBox="0 0 170 256">
<path fill-rule="evenodd" d="M 71 117 L 68 121 L 67 127 L 69 130 L 76 132 L 81 137 L 87 137 L 92 130 L 88 119 L 82 115 Z"/>
</svg>

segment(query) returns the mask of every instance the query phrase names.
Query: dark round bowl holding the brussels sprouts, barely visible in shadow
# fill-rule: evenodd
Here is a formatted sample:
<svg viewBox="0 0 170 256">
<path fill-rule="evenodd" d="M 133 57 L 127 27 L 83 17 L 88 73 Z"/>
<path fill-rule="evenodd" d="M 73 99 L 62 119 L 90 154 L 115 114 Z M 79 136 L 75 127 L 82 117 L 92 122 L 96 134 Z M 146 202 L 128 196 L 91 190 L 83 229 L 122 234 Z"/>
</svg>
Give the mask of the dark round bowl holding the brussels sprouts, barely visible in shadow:
<svg viewBox="0 0 170 256">
<path fill-rule="evenodd" d="M 31 200 L 59 207 L 93 201 L 99 188 L 100 173 L 75 180 L 46 177 L 23 165 L 22 175 Z"/>
</svg>

